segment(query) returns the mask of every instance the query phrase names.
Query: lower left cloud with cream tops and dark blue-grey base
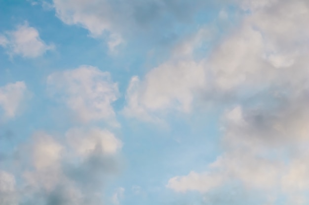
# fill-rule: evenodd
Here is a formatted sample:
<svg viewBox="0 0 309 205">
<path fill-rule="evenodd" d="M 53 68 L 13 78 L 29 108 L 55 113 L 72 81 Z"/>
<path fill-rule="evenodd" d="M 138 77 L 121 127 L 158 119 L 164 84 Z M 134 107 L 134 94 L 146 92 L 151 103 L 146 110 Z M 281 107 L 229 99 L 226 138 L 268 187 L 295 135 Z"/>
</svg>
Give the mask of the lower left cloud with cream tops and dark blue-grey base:
<svg viewBox="0 0 309 205">
<path fill-rule="evenodd" d="M 49 135 L 43 131 L 34 133 L 27 145 L 21 145 L 17 170 L 21 177 L 18 184 L 18 198 L 24 204 L 46 205 L 101 205 L 103 188 L 109 176 L 117 173 L 121 146 L 114 150 L 113 143 L 122 145 L 113 133 L 98 128 L 72 128 L 67 131 L 67 140 Z M 79 142 L 95 144 L 86 152 L 79 153 Z M 96 141 L 98 140 L 98 141 Z M 79 146 L 88 146 L 81 144 Z M 73 146 L 73 147 L 72 147 Z M 72 151 L 76 149 L 76 151 Z M 113 149 L 113 150 L 112 150 Z M 27 168 L 27 169 L 25 169 Z M 26 170 L 26 171 L 25 171 Z M 18 173 L 21 172 L 21 173 Z M 27 187 L 24 189 L 23 187 Z M 118 194 L 120 197 L 120 192 Z"/>
</svg>

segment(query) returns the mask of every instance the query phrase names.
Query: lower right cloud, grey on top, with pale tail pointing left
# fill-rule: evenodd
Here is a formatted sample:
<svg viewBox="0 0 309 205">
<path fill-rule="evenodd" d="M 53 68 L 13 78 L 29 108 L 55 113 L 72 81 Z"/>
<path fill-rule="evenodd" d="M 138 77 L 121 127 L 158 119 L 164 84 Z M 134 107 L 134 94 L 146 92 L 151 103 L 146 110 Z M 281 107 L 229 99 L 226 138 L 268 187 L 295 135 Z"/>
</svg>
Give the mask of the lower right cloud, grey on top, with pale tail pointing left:
<svg viewBox="0 0 309 205">
<path fill-rule="evenodd" d="M 173 177 L 167 187 L 177 192 L 203 193 L 239 180 L 248 189 L 280 190 L 291 198 L 295 189 L 309 190 L 307 177 L 302 175 L 308 169 L 304 145 L 308 145 L 309 110 L 302 109 L 305 113 L 300 114 L 294 108 L 281 109 L 271 113 L 236 107 L 227 112 L 223 119 L 226 152 L 209 165 L 207 173 Z"/>
</svg>

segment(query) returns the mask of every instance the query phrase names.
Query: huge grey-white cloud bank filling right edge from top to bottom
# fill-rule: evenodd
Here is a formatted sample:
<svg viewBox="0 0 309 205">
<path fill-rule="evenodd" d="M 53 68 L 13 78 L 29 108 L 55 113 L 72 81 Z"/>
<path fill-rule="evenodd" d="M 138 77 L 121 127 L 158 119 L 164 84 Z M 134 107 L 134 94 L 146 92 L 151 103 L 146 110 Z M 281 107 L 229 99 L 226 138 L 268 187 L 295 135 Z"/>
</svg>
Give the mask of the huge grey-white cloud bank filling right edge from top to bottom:
<svg viewBox="0 0 309 205">
<path fill-rule="evenodd" d="M 249 14 L 205 62 L 211 88 L 240 96 L 222 117 L 224 153 L 205 173 L 175 176 L 167 187 L 207 193 L 238 181 L 267 199 L 307 204 L 309 5 L 238 2 Z"/>
</svg>

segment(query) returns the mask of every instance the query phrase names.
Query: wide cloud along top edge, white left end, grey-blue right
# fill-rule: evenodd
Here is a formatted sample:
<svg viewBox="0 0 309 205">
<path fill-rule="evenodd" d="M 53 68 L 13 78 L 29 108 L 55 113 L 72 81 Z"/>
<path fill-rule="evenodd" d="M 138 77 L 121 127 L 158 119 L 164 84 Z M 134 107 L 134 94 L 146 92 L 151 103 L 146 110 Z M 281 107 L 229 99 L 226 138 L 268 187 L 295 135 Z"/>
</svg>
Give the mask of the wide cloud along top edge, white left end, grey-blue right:
<svg viewBox="0 0 309 205">
<path fill-rule="evenodd" d="M 176 0 L 150 0 L 130 3 L 120 1 L 117 4 L 108 0 L 54 0 L 56 16 L 69 25 L 79 24 L 92 35 L 101 35 L 105 30 L 114 32 L 120 27 L 147 26 L 162 20 L 165 15 L 172 15 L 179 20 L 190 18 L 202 1 L 194 3 Z M 122 11 L 122 12 L 121 12 Z M 126 12 L 124 12 L 126 11 Z M 117 13 L 117 14 L 116 14 Z M 126 27 L 125 23 L 129 24 Z"/>
</svg>

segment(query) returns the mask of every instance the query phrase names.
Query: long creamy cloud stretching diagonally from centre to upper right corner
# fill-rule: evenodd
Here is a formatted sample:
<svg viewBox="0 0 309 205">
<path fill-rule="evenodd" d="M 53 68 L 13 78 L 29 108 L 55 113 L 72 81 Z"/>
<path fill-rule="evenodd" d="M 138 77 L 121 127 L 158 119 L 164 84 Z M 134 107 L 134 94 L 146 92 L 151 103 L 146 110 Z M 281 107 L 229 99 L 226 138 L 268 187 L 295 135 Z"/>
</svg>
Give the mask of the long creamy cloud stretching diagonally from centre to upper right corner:
<svg viewBox="0 0 309 205">
<path fill-rule="evenodd" d="M 199 61 L 193 58 L 196 49 L 214 36 L 210 29 L 201 28 L 176 45 L 171 59 L 153 68 L 144 79 L 132 77 L 124 114 L 159 121 L 159 113 L 168 113 L 170 108 L 189 113 L 195 99 L 216 101 L 218 96 L 231 96 L 239 100 L 274 87 L 289 91 L 300 84 L 307 87 L 309 31 L 300 26 L 308 18 L 307 4 L 238 2 L 252 13 L 245 15 L 209 56 Z M 288 16 L 283 12 L 287 8 L 293 8 Z"/>
</svg>

